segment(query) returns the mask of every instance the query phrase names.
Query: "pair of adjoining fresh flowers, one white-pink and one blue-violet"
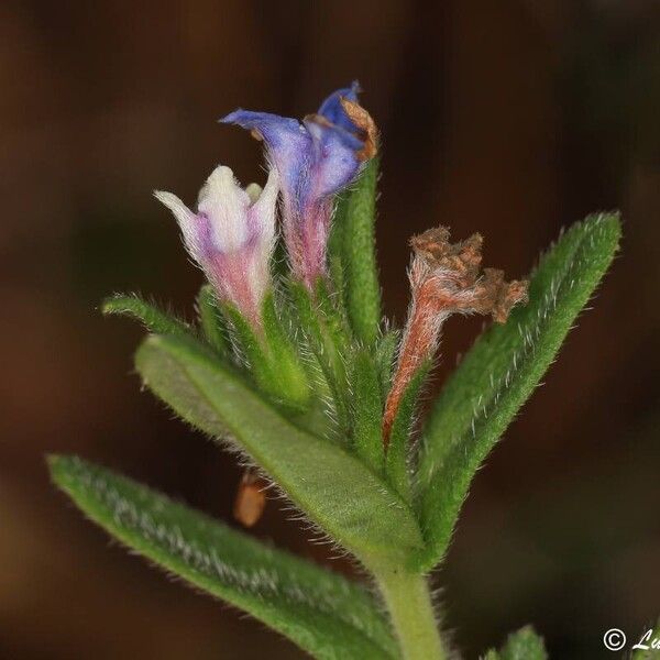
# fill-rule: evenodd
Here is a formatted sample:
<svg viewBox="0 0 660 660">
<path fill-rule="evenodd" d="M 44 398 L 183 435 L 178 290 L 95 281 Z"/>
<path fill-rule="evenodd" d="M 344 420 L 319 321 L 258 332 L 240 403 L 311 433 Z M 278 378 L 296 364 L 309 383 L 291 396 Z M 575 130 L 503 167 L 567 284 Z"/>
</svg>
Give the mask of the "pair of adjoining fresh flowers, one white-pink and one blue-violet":
<svg viewBox="0 0 660 660">
<path fill-rule="evenodd" d="M 254 329 L 272 286 L 278 195 L 293 276 L 311 292 L 326 275 L 334 195 L 376 151 L 376 129 L 358 105 L 358 92 L 356 82 L 339 89 L 301 122 L 249 110 L 221 120 L 264 141 L 270 173 L 263 190 L 256 184 L 242 189 L 231 169 L 219 166 L 199 194 L 197 212 L 169 193 L 155 194 L 174 212 L 219 299 L 235 306 Z"/>
</svg>

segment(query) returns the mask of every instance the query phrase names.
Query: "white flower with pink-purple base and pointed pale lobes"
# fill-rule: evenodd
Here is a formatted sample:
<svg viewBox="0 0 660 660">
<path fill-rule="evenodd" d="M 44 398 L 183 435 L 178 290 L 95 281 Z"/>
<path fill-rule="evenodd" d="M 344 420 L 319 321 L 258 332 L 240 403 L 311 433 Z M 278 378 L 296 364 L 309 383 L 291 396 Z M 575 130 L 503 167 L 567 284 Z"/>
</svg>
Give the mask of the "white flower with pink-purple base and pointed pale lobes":
<svg viewBox="0 0 660 660">
<path fill-rule="evenodd" d="M 261 327 L 262 302 L 271 287 L 278 194 L 275 168 L 262 190 L 243 189 L 229 167 L 218 166 L 199 191 L 197 212 L 176 195 L 156 191 L 176 218 L 184 242 L 216 289 L 254 328 Z"/>
</svg>

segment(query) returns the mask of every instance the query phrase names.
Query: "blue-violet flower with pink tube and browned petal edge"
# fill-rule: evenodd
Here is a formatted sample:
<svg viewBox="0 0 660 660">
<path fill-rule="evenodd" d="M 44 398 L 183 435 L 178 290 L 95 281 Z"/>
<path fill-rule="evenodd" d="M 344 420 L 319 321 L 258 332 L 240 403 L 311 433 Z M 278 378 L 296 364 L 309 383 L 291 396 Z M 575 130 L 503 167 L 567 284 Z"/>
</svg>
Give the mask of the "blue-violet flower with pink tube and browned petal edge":
<svg viewBox="0 0 660 660">
<path fill-rule="evenodd" d="M 359 90 L 358 82 L 338 89 L 301 122 L 240 109 L 220 120 L 264 141 L 267 158 L 279 174 L 292 271 L 310 289 L 326 274 L 333 195 L 375 152 L 375 127 L 358 105 Z"/>
</svg>

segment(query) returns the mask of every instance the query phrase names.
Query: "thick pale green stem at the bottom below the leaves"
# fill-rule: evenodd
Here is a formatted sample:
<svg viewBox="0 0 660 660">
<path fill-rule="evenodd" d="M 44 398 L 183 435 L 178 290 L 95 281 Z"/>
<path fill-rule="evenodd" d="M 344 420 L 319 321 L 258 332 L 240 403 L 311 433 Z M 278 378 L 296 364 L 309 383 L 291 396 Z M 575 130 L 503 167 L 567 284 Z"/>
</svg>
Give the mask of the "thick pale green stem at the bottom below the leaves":
<svg viewBox="0 0 660 660">
<path fill-rule="evenodd" d="M 404 569 L 374 572 L 405 660 L 444 660 L 427 579 Z"/>
</svg>

